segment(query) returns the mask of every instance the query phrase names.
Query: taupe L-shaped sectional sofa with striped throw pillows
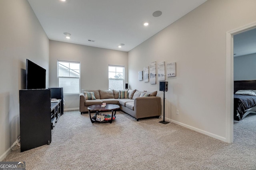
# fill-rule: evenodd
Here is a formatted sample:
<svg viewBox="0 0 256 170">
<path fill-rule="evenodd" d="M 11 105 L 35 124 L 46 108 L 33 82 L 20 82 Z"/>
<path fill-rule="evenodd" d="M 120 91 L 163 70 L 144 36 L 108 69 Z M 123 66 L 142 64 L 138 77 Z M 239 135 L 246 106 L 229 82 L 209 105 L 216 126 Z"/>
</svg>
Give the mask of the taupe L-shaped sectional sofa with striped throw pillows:
<svg viewBox="0 0 256 170">
<path fill-rule="evenodd" d="M 90 93 L 89 93 L 90 92 Z M 93 92 L 93 93 L 92 93 Z M 90 98 L 94 94 L 94 98 Z M 156 117 L 161 115 L 161 98 L 155 92 L 138 90 L 83 90 L 80 93 L 80 112 L 88 112 L 88 106 L 94 104 L 118 104 L 120 109 L 135 117 Z M 88 96 L 90 96 L 88 98 Z M 86 98 L 88 98 L 86 100 Z"/>
</svg>

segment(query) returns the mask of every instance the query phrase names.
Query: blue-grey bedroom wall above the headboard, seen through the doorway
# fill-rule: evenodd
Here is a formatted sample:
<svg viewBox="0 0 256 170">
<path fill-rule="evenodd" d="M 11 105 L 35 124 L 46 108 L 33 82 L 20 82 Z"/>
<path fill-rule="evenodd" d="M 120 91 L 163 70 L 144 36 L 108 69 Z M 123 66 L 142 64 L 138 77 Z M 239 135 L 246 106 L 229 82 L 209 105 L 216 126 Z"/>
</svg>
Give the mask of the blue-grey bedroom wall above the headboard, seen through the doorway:
<svg viewBox="0 0 256 170">
<path fill-rule="evenodd" d="M 256 80 L 256 53 L 234 57 L 234 80 Z"/>
</svg>

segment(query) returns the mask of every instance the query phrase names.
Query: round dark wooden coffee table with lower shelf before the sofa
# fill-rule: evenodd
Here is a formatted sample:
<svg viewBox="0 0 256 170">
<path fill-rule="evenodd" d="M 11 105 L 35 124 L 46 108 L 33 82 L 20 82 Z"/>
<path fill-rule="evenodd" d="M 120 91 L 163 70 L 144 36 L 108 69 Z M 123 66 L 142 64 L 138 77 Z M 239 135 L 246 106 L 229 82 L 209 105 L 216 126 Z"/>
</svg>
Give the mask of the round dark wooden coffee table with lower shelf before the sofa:
<svg viewBox="0 0 256 170">
<path fill-rule="evenodd" d="M 120 106 L 118 106 L 117 104 L 106 104 L 106 107 L 101 107 L 100 104 L 95 104 L 95 105 L 92 105 L 92 106 L 89 106 L 88 107 L 88 112 L 89 112 L 89 117 L 90 117 L 90 120 L 92 123 L 96 122 L 96 118 L 93 119 L 91 117 L 91 111 L 94 110 L 96 111 L 96 116 L 98 114 L 100 114 L 100 111 L 112 111 L 112 116 L 111 116 L 111 120 L 104 120 L 104 121 L 109 121 L 109 123 L 112 123 L 113 121 L 113 116 L 116 117 L 116 110 L 119 109 Z M 115 113 L 114 113 L 115 111 Z M 104 122 L 104 121 L 97 121 L 97 122 Z"/>
</svg>

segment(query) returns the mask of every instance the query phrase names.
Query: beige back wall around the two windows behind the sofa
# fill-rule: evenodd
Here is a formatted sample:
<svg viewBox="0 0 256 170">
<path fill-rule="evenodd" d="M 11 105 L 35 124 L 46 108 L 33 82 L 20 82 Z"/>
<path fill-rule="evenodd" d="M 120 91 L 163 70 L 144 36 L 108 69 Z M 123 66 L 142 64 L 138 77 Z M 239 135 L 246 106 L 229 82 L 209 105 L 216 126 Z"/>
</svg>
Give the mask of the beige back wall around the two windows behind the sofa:
<svg viewBox="0 0 256 170">
<path fill-rule="evenodd" d="M 108 64 L 125 66 L 128 82 L 128 53 L 50 40 L 50 87 L 57 87 L 57 60 L 80 61 L 81 89 L 108 90 Z M 64 109 L 79 108 L 79 95 L 65 96 Z"/>
</svg>

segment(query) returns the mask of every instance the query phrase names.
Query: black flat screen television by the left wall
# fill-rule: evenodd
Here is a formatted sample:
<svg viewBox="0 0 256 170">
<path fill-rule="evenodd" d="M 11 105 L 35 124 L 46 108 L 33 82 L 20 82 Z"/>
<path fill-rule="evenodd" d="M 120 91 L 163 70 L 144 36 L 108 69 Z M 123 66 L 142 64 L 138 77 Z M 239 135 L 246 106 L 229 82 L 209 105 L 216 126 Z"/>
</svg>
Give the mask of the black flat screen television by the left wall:
<svg viewBox="0 0 256 170">
<path fill-rule="evenodd" d="M 26 89 L 45 89 L 46 88 L 46 69 L 26 61 Z"/>
</svg>

